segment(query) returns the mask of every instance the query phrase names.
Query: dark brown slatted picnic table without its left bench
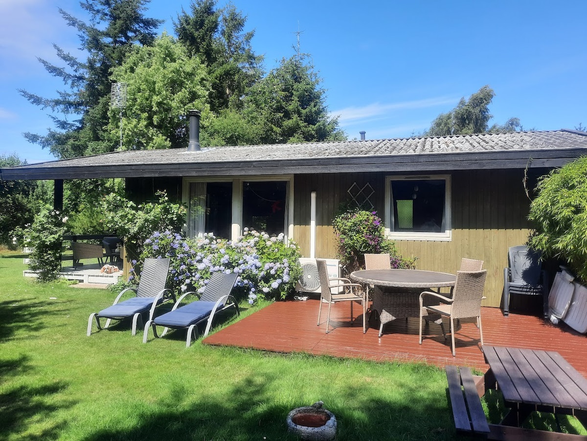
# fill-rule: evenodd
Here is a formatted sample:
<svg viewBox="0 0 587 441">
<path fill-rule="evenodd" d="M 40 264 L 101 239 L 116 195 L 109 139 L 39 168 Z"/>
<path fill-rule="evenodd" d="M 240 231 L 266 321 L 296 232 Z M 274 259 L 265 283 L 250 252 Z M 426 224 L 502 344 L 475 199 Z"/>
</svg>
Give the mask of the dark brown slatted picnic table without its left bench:
<svg viewBox="0 0 587 441">
<path fill-rule="evenodd" d="M 558 352 L 483 346 L 490 369 L 485 389 L 501 390 L 510 412 L 499 425 L 490 425 L 489 439 L 581 439 L 585 436 L 545 430 L 520 429 L 538 410 L 574 415 L 587 427 L 587 379 Z"/>
</svg>

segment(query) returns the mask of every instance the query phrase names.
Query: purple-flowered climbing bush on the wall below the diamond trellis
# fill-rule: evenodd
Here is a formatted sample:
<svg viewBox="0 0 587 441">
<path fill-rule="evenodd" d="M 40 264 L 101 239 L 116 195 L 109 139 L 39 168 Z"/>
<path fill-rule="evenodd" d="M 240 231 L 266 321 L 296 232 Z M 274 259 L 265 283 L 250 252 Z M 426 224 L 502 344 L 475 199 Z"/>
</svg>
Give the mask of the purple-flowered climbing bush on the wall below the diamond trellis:
<svg viewBox="0 0 587 441">
<path fill-rule="evenodd" d="M 392 268 L 416 268 L 416 258 L 403 258 L 385 237 L 376 211 L 347 210 L 332 221 L 338 238 L 338 256 L 347 274 L 365 267 L 365 254 L 389 253 Z"/>
</svg>

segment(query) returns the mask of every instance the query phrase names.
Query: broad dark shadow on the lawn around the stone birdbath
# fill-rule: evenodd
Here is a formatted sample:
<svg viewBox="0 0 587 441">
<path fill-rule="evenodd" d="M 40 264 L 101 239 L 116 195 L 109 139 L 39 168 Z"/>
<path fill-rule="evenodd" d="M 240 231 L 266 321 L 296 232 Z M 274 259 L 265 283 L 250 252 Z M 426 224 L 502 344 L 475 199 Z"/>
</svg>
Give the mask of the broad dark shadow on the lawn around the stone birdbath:
<svg viewBox="0 0 587 441">
<path fill-rule="evenodd" d="M 287 432 L 286 416 L 290 410 L 312 403 L 275 399 L 271 393 L 274 381 L 275 378 L 261 374 L 248 376 L 235 382 L 230 393 L 222 396 L 214 395 L 214 384 L 210 385 L 211 390 L 188 390 L 178 385 L 158 402 L 149 403 L 148 408 L 141 407 L 133 415 L 138 421 L 134 427 L 116 429 L 110 424 L 108 428 L 96 428 L 84 439 L 296 440 L 298 437 Z M 348 408 L 332 407 L 326 402 L 325 407 L 338 422 L 336 439 L 453 439 L 454 431 L 446 429 L 450 427 L 446 405 L 411 399 L 416 389 L 417 385 L 406 385 L 404 399 L 393 402 L 370 398 L 363 385 L 357 384 L 346 390 L 344 396 L 337 396 L 339 403 L 349 403 Z M 123 427 L 125 419 L 121 416 L 117 425 Z"/>
</svg>

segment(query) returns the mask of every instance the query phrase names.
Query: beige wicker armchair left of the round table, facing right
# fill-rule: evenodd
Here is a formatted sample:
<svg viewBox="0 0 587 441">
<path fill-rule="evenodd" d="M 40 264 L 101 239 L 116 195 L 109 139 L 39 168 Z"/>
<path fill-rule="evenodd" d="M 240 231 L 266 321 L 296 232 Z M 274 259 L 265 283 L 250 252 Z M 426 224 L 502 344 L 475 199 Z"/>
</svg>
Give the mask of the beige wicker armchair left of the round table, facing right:
<svg viewBox="0 0 587 441">
<path fill-rule="evenodd" d="M 365 299 L 363 298 L 363 287 L 361 284 L 352 283 L 347 278 L 329 278 L 328 270 L 326 268 L 326 261 L 323 259 L 316 259 L 316 266 L 318 267 L 318 276 L 320 278 L 320 306 L 318 307 L 318 326 L 320 325 L 320 315 L 322 314 L 322 300 L 328 302 L 328 318 L 326 318 L 326 334 L 330 327 L 330 307 L 336 302 L 350 301 L 350 321 L 353 321 L 353 302 L 360 302 L 363 307 L 363 333 L 365 328 Z M 335 282 L 331 284 L 330 282 Z M 341 294 L 332 294 L 331 288 L 343 288 Z"/>
</svg>

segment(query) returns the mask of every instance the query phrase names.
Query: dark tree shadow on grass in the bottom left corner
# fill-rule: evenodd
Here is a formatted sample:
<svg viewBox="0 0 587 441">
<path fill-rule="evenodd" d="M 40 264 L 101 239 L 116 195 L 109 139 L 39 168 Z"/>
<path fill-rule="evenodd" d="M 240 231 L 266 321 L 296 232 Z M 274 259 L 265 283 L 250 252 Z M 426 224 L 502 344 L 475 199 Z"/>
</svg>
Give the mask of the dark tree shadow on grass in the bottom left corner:
<svg viewBox="0 0 587 441">
<path fill-rule="evenodd" d="M 17 359 L 0 360 L 0 379 L 25 376 L 33 369 L 28 358 L 21 356 Z M 72 403 L 55 402 L 55 395 L 68 388 L 65 382 L 51 382 L 41 385 L 15 385 L 3 388 L 0 393 L 0 415 L 2 415 L 2 429 L 0 440 L 13 439 L 13 436 L 22 436 L 32 423 L 41 422 L 38 433 L 27 433 L 29 440 L 58 439 L 66 422 L 55 422 L 53 413 L 71 406 Z M 43 426 L 43 422 L 50 422 Z"/>
</svg>

